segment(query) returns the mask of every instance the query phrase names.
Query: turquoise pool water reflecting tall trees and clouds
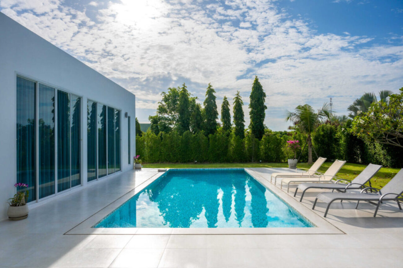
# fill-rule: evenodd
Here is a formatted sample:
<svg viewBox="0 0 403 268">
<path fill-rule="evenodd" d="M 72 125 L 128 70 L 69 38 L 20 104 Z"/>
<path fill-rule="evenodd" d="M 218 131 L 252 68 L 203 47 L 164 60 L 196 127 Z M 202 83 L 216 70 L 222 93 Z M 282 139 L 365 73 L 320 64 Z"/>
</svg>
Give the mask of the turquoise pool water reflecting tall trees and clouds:
<svg viewBox="0 0 403 268">
<path fill-rule="evenodd" d="M 171 169 L 94 227 L 312 226 L 243 169 Z"/>
</svg>

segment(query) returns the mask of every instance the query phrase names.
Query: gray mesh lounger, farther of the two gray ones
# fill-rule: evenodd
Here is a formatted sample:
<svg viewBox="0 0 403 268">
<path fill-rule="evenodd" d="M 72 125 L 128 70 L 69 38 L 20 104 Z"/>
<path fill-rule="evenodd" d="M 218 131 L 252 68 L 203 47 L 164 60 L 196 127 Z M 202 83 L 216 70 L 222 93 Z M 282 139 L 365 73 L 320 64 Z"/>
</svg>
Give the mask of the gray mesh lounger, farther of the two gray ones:
<svg viewBox="0 0 403 268">
<path fill-rule="evenodd" d="M 364 184 L 367 182 L 370 182 L 370 179 L 374 177 L 376 172 L 378 172 L 382 168 L 382 165 L 375 165 L 375 164 L 369 164 L 364 170 L 359 173 L 355 179 L 352 181 L 346 180 L 346 179 L 339 179 L 337 181 L 330 182 L 330 183 L 301 183 L 300 185 L 297 186 L 297 189 L 295 189 L 294 196 L 297 195 L 298 189 L 302 190 L 302 195 L 301 199 L 299 199 L 299 202 L 302 201 L 302 198 L 305 194 L 305 191 L 307 189 L 330 189 L 330 190 L 337 190 L 337 191 L 343 191 L 346 192 L 348 189 L 362 189 L 365 188 Z M 336 177 L 336 176 L 334 176 Z M 319 181 L 321 182 L 321 181 Z M 346 183 L 347 182 L 347 183 Z M 371 187 L 371 182 L 370 182 L 370 187 Z"/>
</svg>

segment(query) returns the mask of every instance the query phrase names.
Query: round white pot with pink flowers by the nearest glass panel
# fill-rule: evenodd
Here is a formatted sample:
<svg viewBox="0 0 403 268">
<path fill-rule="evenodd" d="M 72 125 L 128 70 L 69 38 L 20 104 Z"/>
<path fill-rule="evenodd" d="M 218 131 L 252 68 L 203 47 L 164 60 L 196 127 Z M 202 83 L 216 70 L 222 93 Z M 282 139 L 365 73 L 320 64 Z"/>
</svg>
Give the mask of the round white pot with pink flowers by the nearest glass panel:
<svg viewBox="0 0 403 268">
<path fill-rule="evenodd" d="M 23 220 L 28 217 L 28 185 L 25 183 L 16 183 L 14 187 L 21 187 L 22 190 L 18 191 L 14 197 L 8 199 L 10 206 L 7 210 L 7 216 L 9 220 Z"/>
</svg>

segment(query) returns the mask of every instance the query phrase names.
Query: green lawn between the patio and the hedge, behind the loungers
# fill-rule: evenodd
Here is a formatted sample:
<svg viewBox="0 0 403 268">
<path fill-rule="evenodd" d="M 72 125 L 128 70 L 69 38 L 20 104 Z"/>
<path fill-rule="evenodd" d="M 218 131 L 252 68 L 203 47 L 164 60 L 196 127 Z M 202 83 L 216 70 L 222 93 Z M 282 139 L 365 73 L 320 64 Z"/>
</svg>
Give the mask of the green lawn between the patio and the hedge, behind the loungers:
<svg viewBox="0 0 403 268">
<path fill-rule="evenodd" d="M 331 162 L 324 163 L 319 172 L 325 172 L 331 165 Z M 214 164 L 194 164 L 194 163 L 158 163 L 158 164 L 143 164 L 144 168 L 286 168 L 287 163 L 214 163 Z M 307 163 L 299 163 L 298 168 L 309 168 Z M 337 173 L 337 176 L 342 179 L 352 180 L 366 166 L 360 164 L 346 163 L 343 168 Z M 372 187 L 383 187 L 395 174 L 399 168 L 381 168 L 371 179 Z"/>
</svg>

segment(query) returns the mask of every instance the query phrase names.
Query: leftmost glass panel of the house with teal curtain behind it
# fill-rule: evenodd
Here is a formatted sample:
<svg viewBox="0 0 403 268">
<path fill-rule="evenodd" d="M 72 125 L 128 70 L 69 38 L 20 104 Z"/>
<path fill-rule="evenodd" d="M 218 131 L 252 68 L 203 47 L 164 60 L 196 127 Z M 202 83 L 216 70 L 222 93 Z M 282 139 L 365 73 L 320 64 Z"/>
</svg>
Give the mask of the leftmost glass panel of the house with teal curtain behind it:
<svg viewBox="0 0 403 268">
<path fill-rule="evenodd" d="M 17 77 L 17 183 L 28 184 L 27 202 L 36 199 L 35 87 L 35 82 Z"/>
</svg>

